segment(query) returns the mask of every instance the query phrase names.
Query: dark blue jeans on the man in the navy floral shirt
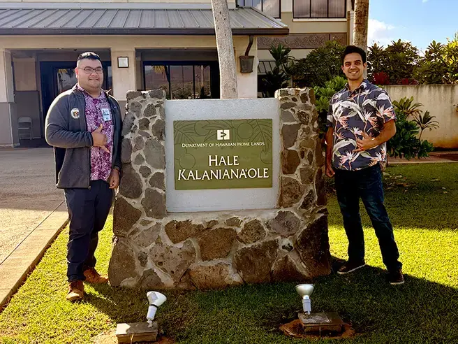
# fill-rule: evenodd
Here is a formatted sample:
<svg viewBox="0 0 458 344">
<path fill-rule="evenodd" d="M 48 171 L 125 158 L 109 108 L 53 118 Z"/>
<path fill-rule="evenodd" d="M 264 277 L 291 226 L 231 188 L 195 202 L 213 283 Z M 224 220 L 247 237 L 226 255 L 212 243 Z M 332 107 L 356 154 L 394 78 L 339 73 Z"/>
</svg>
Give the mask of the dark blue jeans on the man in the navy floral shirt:
<svg viewBox="0 0 458 344">
<path fill-rule="evenodd" d="M 376 231 L 383 264 L 388 271 L 402 267 L 394 241 L 393 228 L 383 204 L 383 184 L 380 165 L 360 171 L 335 170 L 337 201 L 344 217 L 348 238 L 348 259 L 364 259 L 364 232 L 360 217 L 360 198 Z"/>
</svg>

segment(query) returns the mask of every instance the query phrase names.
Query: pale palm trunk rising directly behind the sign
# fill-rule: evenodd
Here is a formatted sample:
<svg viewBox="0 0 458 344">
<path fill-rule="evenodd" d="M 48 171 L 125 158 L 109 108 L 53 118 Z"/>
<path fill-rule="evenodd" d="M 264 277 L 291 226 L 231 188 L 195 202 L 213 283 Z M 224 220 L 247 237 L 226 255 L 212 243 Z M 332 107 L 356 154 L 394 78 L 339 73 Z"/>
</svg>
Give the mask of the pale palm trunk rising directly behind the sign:
<svg viewBox="0 0 458 344">
<path fill-rule="evenodd" d="M 212 10 L 219 59 L 220 97 L 237 99 L 234 43 L 232 43 L 228 2 L 212 0 Z"/>
</svg>

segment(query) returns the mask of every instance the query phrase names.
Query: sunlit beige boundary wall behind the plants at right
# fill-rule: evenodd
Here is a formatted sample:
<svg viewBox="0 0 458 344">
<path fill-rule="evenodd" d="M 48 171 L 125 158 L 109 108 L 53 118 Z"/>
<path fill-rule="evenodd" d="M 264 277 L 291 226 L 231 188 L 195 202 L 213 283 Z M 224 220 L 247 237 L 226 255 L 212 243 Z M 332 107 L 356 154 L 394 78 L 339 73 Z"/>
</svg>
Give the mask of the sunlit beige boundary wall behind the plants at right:
<svg viewBox="0 0 458 344">
<path fill-rule="evenodd" d="M 458 148 L 458 85 L 390 85 L 386 89 L 392 101 L 413 96 L 422 103 L 421 110 L 429 110 L 439 129 L 423 132 L 425 138 L 437 148 Z"/>
</svg>

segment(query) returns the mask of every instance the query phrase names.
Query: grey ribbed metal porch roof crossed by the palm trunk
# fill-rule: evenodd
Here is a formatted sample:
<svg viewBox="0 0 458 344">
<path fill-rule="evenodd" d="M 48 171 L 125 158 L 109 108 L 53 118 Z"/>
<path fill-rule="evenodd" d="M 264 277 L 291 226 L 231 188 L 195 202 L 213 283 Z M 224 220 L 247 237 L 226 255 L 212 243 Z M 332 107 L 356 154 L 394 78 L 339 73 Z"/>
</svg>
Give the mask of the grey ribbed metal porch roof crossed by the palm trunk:
<svg viewBox="0 0 458 344">
<path fill-rule="evenodd" d="M 28 4 L 24 3 L 24 6 Z M 1 5 L 0 5 L 1 6 Z M 166 6 L 163 4 L 163 6 Z M 286 24 L 256 8 L 230 9 L 235 36 L 286 36 Z M 214 36 L 211 8 L 0 8 L 0 35 Z"/>
</svg>

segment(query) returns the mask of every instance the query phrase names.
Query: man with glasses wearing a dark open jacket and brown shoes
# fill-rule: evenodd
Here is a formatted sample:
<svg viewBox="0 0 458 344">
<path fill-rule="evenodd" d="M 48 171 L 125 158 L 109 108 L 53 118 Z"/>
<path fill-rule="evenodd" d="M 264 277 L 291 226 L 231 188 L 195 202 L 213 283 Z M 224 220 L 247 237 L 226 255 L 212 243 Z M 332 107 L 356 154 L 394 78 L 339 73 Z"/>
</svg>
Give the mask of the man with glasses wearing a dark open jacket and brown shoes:
<svg viewBox="0 0 458 344">
<path fill-rule="evenodd" d="M 108 282 L 95 269 L 94 252 L 121 169 L 121 113 L 116 99 L 101 88 L 100 57 L 81 54 L 75 75 L 77 84 L 54 99 L 45 124 L 46 141 L 54 146 L 57 187 L 64 189 L 70 218 L 68 301 L 83 298 L 84 280 Z"/>
</svg>

